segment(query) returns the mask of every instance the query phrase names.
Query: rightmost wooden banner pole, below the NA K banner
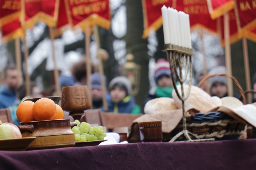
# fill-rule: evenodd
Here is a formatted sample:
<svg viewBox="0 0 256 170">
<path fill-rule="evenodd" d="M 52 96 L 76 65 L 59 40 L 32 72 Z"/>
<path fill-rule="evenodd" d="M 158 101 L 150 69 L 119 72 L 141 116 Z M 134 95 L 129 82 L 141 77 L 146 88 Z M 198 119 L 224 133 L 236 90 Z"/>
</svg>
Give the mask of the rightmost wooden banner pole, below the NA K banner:
<svg viewBox="0 0 256 170">
<path fill-rule="evenodd" d="M 245 72 L 245 82 L 246 82 L 246 90 L 250 90 L 251 87 L 251 78 L 250 78 L 250 65 L 248 61 L 248 47 L 247 47 L 247 39 L 245 37 L 242 38 L 243 43 L 243 54 L 244 54 L 244 72 Z M 252 95 L 250 93 L 247 94 L 248 103 L 252 103 Z"/>
</svg>

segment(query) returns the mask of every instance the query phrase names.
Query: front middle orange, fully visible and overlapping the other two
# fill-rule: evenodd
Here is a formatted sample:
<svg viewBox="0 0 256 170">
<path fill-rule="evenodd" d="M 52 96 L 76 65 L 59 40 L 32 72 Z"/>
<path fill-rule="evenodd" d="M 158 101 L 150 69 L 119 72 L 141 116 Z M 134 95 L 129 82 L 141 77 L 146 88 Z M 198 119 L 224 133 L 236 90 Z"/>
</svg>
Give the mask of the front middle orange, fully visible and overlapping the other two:
<svg viewBox="0 0 256 170">
<path fill-rule="evenodd" d="M 53 120 L 56 115 L 56 104 L 51 99 L 41 98 L 33 105 L 35 120 Z"/>
</svg>

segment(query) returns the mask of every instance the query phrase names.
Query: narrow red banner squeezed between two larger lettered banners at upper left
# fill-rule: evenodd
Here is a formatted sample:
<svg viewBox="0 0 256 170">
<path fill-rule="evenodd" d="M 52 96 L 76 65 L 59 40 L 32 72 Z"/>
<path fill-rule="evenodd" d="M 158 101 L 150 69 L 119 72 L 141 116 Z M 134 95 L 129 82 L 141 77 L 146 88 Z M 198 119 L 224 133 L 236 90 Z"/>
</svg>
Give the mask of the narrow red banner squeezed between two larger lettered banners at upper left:
<svg viewBox="0 0 256 170">
<path fill-rule="evenodd" d="M 58 20 L 55 28 L 54 35 L 59 36 L 62 34 L 65 30 L 69 28 L 69 21 L 68 21 L 68 15 L 67 15 L 67 9 L 65 6 L 65 1 L 60 0 L 59 1 L 59 10 L 58 10 Z"/>
</svg>

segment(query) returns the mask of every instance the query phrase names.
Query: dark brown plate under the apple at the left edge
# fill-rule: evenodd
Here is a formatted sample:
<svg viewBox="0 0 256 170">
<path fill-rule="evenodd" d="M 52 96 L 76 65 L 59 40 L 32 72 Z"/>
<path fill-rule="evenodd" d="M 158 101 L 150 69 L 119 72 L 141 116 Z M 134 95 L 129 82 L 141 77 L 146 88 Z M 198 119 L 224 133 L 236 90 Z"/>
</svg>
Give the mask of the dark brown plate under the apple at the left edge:
<svg viewBox="0 0 256 170">
<path fill-rule="evenodd" d="M 0 139 L 0 150 L 2 151 L 25 151 L 36 137 L 24 137 L 15 139 Z"/>
</svg>

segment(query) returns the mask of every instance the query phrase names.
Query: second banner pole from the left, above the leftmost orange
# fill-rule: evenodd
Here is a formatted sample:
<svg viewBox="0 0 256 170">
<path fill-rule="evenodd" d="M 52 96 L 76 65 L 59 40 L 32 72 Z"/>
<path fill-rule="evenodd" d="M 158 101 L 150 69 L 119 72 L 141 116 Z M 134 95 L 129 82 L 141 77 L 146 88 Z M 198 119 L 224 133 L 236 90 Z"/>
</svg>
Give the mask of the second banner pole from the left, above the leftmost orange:
<svg viewBox="0 0 256 170">
<path fill-rule="evenodd" d="M 24 62 L 25 62 L 25 81 L 26 81 L 26 96 L 30 96 L 30 77 L 28 75 L 28 47 L 27 47 L 27 38 L 26 30 L 24 32 Z"/>
</svg>

